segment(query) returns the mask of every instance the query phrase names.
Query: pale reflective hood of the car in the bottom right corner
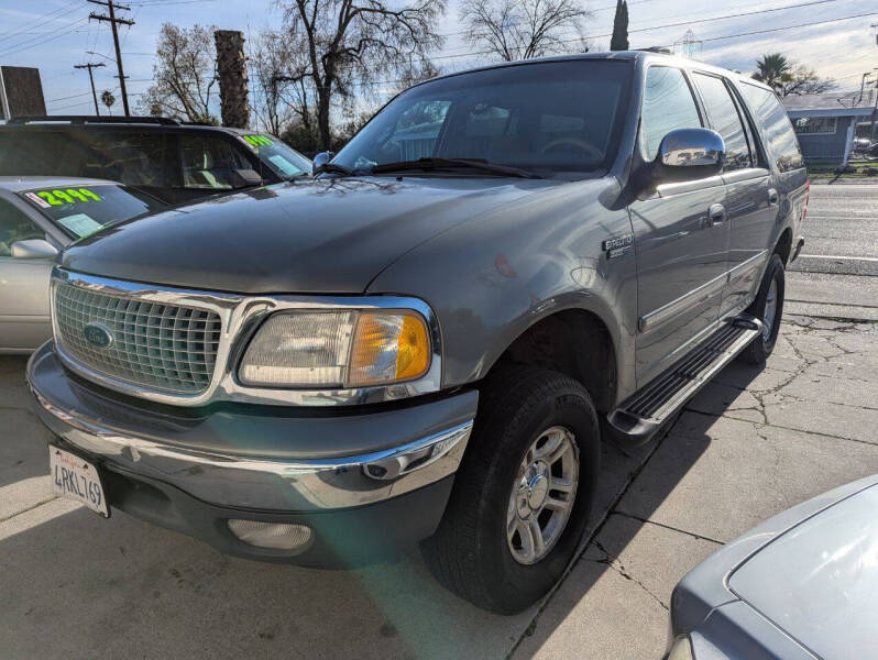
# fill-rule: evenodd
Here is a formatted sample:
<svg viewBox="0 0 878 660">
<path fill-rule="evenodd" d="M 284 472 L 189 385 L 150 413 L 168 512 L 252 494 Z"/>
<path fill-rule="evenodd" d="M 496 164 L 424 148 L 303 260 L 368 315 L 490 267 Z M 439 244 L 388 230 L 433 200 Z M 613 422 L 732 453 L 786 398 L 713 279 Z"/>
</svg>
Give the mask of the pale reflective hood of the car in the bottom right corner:
<svg viewBox="0 0 878 660">
<path fill-rule="evenodd" d="M 877 639 L 877 510 L 878 486 L 842 499 L 765 546 L 729 587 L 817 657 L 863 657 Z"/>
</svg>

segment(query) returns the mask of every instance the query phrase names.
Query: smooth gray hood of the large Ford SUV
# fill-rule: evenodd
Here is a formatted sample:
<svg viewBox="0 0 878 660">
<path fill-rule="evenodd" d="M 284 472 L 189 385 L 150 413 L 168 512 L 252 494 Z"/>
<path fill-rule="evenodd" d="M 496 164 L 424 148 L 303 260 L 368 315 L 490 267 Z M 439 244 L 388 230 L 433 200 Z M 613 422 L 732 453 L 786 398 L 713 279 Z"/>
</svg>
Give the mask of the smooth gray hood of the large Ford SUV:
<svg viewBox="0 0 878 660">
<path fill-rule="evenodd" d="M 218 292 L 361 293 L 438 233 L 558 185 L 464 177 L 281 184 L 113 226 L 67 249 L 62 265 Z"/>
</svg>

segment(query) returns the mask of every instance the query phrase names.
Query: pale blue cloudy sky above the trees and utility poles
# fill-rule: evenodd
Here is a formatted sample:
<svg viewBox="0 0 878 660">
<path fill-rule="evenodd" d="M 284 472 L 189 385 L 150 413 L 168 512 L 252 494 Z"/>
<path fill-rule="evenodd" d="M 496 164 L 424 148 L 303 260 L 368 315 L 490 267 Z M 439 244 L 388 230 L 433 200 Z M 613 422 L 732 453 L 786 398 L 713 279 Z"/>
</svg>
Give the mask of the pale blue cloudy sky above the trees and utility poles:
<svg viewBox="0 0 878 660">
<path fill-rule="evenodd" d="M 274 0 L 132 0 L 125 4 L 131 11 L 120 15 L 135 21 L 120 33 L 132 106 L 150 85 L 155 40 L 163 22 L 213 24 L 243 30 L 249 36 L 282 22 Z M 607 48 L 615 0 L 588 0 L 584 4 L 593 13 L 586 29 L 592 50 Z M 765 11 L 778 8 L 788 9 Z M 74 69 L 75 64 L 105 62 L 107 66 L 95 72 L 98 90 L 118 88 L 109 26 L 88 20 L 89 11 L 101 9 L 86 0 L 0 0 L 0 64 L 39 67 L 52 113 L 92 112 L 88 74 Z M 703 41 L 696 57 L 705 62 L 750 72 L 759 55 L 781 52 L 835 78 L 841 90 L 859 89 L 863 73 L 878 67 L 876 30 L 870 28 L 878 22 L 878 0 L 629 0 L 628 12 L 633 48 L 674 44 L 691 29 Z M 650 30 L 739 13 L 753 15 Z M 823 22 L 865 13 L 871 15 Z M 823 23 L 732 36 L 816 22 Z M 440 31 L 448 35 L 445 48 L 437 53 L 443 72 L 486 62 L 472 56 L 471 48 L 460 41 L 457 0 L 450 0 Z M 88 55 L 87 51 L 101 55 Z M 121 100 L 117 111 L 121 112 Z"/>
</svg>

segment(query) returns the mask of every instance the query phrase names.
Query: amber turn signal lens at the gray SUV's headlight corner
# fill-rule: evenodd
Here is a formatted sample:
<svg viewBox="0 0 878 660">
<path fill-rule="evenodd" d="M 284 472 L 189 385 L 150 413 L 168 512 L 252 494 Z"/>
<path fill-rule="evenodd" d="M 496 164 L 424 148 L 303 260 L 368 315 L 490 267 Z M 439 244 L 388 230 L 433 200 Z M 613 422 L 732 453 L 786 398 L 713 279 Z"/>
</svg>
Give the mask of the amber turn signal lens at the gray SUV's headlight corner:
<svg viewBox="0 0 878 660">
<path fill-rule="evenodd" d="M 356 322 L 349 385 L 411 381 L 430 366 L 427 323 L 411 311 L 364 311 Z"/>
</svg>

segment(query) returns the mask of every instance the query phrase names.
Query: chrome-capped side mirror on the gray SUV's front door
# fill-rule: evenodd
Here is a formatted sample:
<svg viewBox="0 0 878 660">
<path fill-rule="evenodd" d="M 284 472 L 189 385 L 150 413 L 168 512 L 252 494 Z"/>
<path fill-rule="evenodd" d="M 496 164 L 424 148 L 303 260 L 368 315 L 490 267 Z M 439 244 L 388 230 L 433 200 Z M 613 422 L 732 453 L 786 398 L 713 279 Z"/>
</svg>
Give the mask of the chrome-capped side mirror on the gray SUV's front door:
<svg viewBox="0 0 878 660">
<path fill-rule="evenodd" d="M 650 167 L 652 183 L 669 184 L 720 174 L 725 164 L 725 142 L 710 129 L 678 129 L 661 139 Z"/>
</svg>

